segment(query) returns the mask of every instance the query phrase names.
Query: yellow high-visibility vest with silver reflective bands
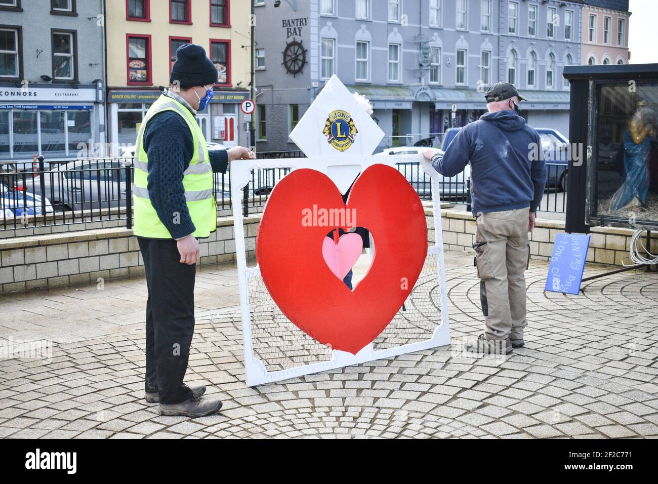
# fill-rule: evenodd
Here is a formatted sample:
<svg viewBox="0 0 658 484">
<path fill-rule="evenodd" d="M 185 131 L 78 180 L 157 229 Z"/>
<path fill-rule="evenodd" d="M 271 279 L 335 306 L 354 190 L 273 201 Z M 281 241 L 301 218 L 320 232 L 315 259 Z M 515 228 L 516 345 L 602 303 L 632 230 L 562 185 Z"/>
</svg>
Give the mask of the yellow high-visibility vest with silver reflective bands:
<svg viewBox="0 0 658 484">
<path fill-rule="evenodd" d="M 163 111 L 174 111 L 178 113 L 190 128 L 194 139 L 194 155 L 190 166 L 183 173 L 183 187 L 185 188 L 185 200 L 190 211 L 192 223 L 196 227 L 193 236 L 207 237 L 217 228 L 217 207 L 215 195 L 213 194 L 213 167 L 208 155 L 205 136 L 194 119 L 193 114 L 184 105 L 166 95 L 161 95 L 149 111 L 147 111 L 137 135 L 134 160 L 134 184 L 132 187 L 134 207 L 133 233 L 139 237 L 147 238 L 172 238 L 169 230 L 160 221 L 158 214 L 149 200 L 147 188 L 148 157 L 143 148 L 143 136 L 146 125 L 150 119 Z M 180 214 L 170 214 L 172 221 L 176 223 L 176 217 Z"/>
</svg>

